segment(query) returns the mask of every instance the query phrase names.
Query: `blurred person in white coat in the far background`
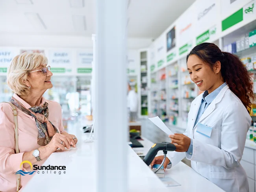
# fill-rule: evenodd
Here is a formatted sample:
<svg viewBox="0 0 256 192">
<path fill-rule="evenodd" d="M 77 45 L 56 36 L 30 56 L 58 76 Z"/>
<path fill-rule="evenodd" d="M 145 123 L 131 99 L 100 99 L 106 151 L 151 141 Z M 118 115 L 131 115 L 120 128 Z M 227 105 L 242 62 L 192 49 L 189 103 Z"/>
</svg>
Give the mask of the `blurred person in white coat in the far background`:
<svg viewBox="0 0 256 192">
<path fill-rule="evenodd" d="M 135 90 L 131 88 L 130 83 L 128 83 L 127 107 L 130 111 L 130 121 L 135 122 L 138 113 L 138 96 Z"/>
</svg>

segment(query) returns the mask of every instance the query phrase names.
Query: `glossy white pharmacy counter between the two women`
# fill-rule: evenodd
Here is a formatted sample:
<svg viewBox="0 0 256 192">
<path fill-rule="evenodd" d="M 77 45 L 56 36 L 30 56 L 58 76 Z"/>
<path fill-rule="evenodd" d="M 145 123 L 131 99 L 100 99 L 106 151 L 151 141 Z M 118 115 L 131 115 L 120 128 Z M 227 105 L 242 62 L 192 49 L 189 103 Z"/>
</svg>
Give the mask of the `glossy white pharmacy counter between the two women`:
<svg viewBox="0 0 256 192">
<path fill-rule="evenodd" d="M 82 133 L 81 129 L 68 130 L 69 133 L 76 135 L 78 144 L 76 148 L 52 153 L 45 161 L 45 166 L 66 166 L 66 172 L 59 171 L 54 174 L 45 172 L 35 174 L 29 183 L 23 188 L 22 192 L 56 192 L 56 191 L 89 191 L 96 192 L 96 144 L 85 143 L 89 134 Z M 152 146 L 148 140 L 144 140 L 145 146 Z M 147 142 L 147 145 L 146 145 Z M 152 172 L 135 151 L 128 148 L 128 188 L 129 192 L 223 192 L 219 187 L 197 174 L 189 166 L 180 162 L 172 169 L 167 170 L 166 176 L 172 177 L 181 186 L 167 187 Z M 144 149 L 144 148 L 143 148 Z M 145 148 L 146 149 L 146 148 Z M 144 150 L 145 150 L 144 149 Z M 147 151 L 145 151 L 147 153 Z M 114 190 L 113 190 L 114 191 Z"/>
</svg>

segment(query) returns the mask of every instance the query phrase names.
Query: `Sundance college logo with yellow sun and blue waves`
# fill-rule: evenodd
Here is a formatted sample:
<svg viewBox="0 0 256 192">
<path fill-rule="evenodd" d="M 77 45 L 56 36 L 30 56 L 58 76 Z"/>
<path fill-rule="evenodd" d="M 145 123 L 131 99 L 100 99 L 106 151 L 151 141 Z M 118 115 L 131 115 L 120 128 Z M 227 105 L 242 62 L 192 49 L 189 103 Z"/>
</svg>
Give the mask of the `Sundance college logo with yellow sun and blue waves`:
<svg viewBox="0 0 256 192">
<path fill-rule="evenodd" d="M 38 166 L 38 165 L 33 165 L 33 171 L 32 171 L 32 163 L 30 161 L 22 161 L 20 163 L 20 169 L 22 164 L 24 163 L 28 163 L 30 164 L 30 172 L 24 172 L 23 170 L 19 170 L 15 173 L 16 174 L 20 174 L 20 175 L 32 175 L 33 173 L 37 172 L 37 174 L 61 174 L 63 170 L 66 170 L 66 166 Z M 40 170 L 40 171 L 37 171 Z M 57 170 L 57 172 L 56 172 Z M 66 171 L 63 171 L 63 174 L 66 174 Z"/>
</svg>

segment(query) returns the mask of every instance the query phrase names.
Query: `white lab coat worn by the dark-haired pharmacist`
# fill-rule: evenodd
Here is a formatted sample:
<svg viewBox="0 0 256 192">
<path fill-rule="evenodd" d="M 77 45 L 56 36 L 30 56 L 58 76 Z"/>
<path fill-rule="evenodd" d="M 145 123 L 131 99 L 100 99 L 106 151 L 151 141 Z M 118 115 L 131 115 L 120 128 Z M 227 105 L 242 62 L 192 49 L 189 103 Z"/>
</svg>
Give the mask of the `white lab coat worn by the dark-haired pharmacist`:
<svg viewBox="0 0 256 192">
<path fill-rule="evenodd" d="M 227 192 L 249 192 L 247 175 L 240 164 L 252 120 L 249 113 L 226 85 L 198 120 L 212 128 L 209 138 L 197 133 L 198 123 L 193 129 L 201 100 L 202 94 L 191 103 L 184 133 L 193 139 L 192 156 L 174 151 L 167 157 L 172 166 L 186 157 L 196 172 Z"/>
</svg>

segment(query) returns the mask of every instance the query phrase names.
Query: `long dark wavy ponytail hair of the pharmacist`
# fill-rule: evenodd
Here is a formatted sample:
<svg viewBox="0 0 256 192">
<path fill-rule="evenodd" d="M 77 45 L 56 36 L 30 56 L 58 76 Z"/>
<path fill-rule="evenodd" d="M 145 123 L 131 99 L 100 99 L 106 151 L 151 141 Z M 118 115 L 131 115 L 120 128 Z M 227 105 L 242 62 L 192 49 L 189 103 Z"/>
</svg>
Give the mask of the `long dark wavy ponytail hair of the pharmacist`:
<svg viewBox="0 0 256 192">
<path fill-rule="evenodd" d="M 255 99 L 253 83 L 250 79 L 250 72 L 247 71 L 239 57 L 228 52 L 222 52 L 217 45 L 208 42 L 195 46 L 187 55 L 187 59 L 190 55 L 197 55 L 212 69 L 215 63 L 219 61 L 224 81 L 250 113 L 252 101 Z"/>
</svg>

